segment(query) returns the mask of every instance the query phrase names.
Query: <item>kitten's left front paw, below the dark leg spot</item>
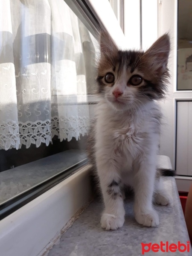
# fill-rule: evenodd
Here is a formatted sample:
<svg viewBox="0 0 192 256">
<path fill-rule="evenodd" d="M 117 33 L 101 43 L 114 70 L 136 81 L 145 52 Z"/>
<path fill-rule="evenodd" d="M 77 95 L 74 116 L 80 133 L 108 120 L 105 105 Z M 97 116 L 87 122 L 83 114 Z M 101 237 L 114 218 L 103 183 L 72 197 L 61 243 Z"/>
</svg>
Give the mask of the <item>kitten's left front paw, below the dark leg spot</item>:
<svg viewBox="0 0 192 256">
<path fill-rule="evenodd" d="M 113 214 L 103 213 L 101 218 L 101 226 L 106 230 L 116 230 L 124 224 L 124 216 L 115 216 Z"/>
</svg>

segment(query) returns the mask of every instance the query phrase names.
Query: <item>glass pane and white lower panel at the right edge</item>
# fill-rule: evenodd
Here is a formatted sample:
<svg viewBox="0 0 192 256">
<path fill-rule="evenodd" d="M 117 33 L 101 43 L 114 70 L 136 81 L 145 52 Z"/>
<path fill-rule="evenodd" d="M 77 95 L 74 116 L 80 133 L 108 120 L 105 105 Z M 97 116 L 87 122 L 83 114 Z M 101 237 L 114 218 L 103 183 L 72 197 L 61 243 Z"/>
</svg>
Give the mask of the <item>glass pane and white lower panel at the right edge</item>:
<svg viewBox="0 0 192 256">
<path fill-rule="evenodd" d="M 192 2 L 178 0 L 176 170 L 192 176 Z M 185 184 L 185 189 L 187 185 Z M 189 188 L 188 188 L 189 189 Z M 181 189 L 180 189 L 181 190 Z M 185 191 L 183 189 L 183 191 Z"/>
</svg>

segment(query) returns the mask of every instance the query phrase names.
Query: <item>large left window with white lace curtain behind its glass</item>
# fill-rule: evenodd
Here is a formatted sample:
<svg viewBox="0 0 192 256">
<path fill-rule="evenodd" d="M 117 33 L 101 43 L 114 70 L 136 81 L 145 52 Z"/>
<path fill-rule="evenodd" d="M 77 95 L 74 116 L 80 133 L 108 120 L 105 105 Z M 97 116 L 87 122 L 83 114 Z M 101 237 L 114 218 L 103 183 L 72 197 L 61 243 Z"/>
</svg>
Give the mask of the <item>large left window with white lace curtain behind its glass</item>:
<svg viewBox="0 0 192 256">
<path fill-rule="evenodd" d="M 0 12 L 3 218 L 86 163 L 98 22 L 75 0 L 8 0 Z"/>
</svg>

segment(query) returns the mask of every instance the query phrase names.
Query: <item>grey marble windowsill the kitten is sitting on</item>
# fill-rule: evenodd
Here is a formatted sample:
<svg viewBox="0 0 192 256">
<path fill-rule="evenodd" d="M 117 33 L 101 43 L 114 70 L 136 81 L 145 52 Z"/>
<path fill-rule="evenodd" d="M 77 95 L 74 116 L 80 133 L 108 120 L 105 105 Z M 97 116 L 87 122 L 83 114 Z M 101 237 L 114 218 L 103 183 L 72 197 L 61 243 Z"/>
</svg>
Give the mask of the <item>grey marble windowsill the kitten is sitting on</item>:
<svg viewBox="0 0 192 256">
<path fill-rule="evenodd" d="M 160 156 L 160 166 L 170 168 L 169 158 Z M 102 230 L 100 225 L 103 203 L 94 200 L 87 209 L 76 219 L 73 225 L 61 236 L 58 244 L 54 245 L 47 256 L 139 256 L 142 255 L 141 243 L 158 243 L 166 241 L 186 244 L 189 236 L 180 204 L 174 177 L 163 177 L 165 189 L 172 195 L 173 203 L 169 206 L 154 205 L 160 218 L 158 227 L 143 227 L 134 219 L 133 198 L 125 200 L 125 224 L 115 231 Z M 192 255 L 190 252 L 163 253 L 155 255 Z M 145 253 L 154 256 L 154 252 Z"/>
</svg>

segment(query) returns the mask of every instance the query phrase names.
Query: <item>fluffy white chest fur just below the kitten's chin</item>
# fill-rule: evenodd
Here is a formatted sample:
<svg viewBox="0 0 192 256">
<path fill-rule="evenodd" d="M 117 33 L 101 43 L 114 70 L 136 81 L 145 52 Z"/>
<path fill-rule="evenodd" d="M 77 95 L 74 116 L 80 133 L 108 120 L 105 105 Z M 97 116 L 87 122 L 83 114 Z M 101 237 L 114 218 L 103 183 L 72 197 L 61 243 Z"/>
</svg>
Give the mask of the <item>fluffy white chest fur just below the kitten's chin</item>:
<svg viewBox="0 0 192 256">
<path fill-rule="evenodd" d="M 97 108 L 96 149 L 124 161 L 129 158 L 129 162 L 145 154 L 148 144 L 158 143 L 157 113 L 155 102 L 138 110 L 115 112 L 102 100 Z"/>
</svg>

